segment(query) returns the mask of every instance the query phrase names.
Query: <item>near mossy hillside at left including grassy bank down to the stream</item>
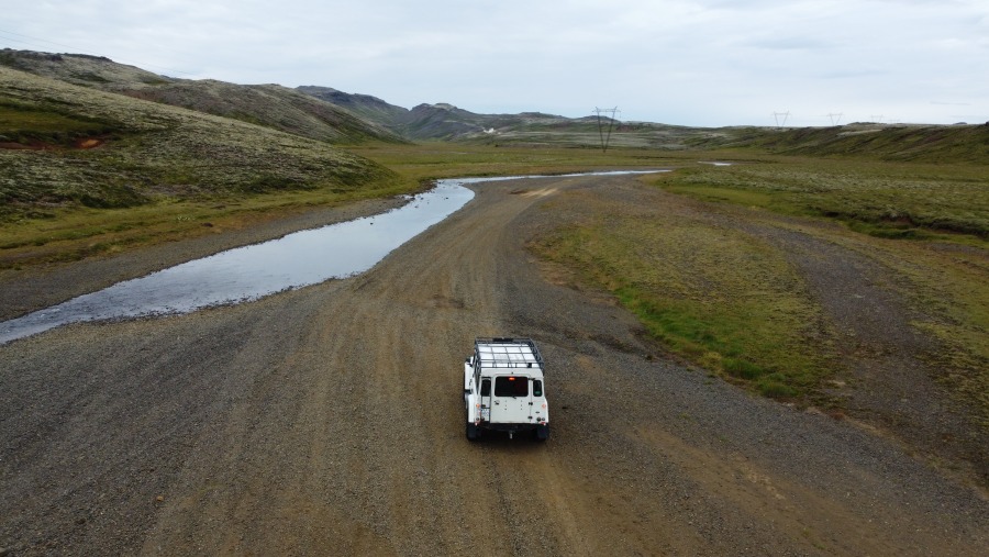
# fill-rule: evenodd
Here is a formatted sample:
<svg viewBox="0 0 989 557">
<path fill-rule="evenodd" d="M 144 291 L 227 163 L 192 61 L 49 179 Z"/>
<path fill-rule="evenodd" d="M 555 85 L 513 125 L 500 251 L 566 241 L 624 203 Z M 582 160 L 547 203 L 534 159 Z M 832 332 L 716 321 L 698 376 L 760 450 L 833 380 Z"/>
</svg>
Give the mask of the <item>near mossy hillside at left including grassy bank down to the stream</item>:
<svg viewBox="0 0 989 557">
<path fill-rule="evenodd" d="M 0 148 L 3 267 L 419 187 L 323 142 L 8 68 L 0 125 L 7 147 L 31 147 Z"/>
</svg>

